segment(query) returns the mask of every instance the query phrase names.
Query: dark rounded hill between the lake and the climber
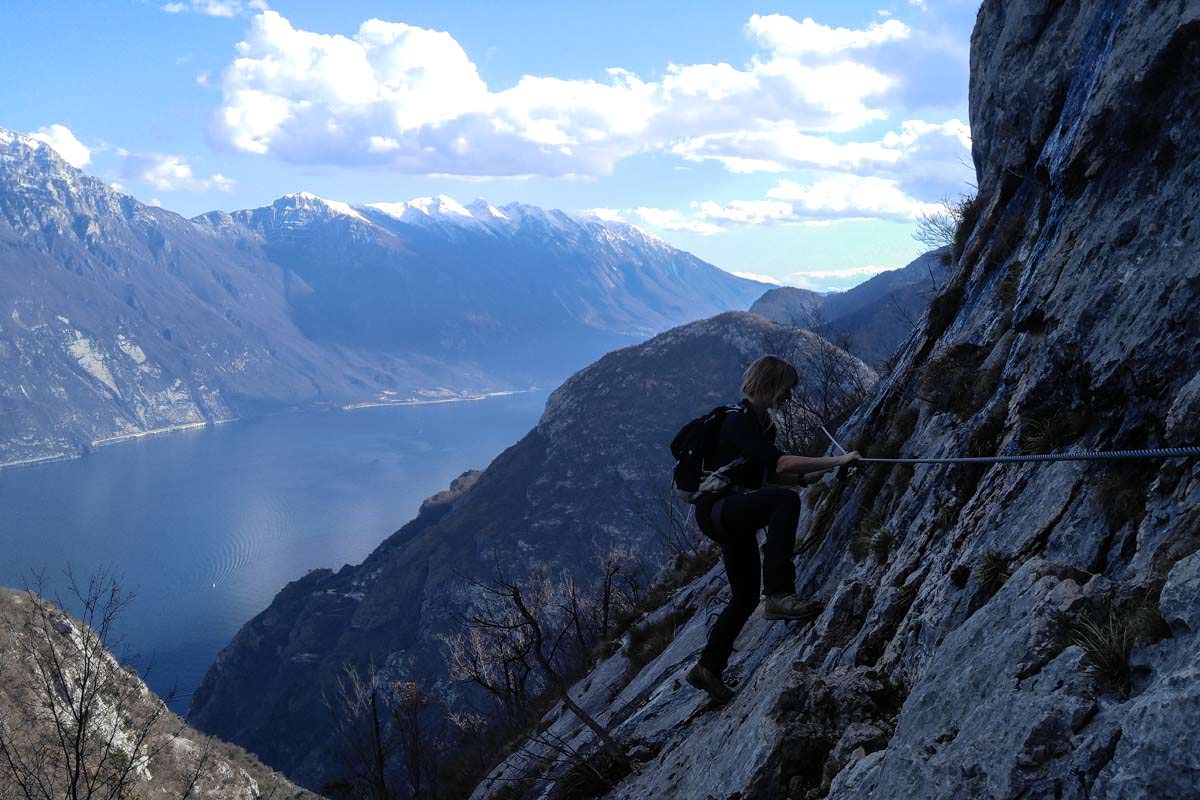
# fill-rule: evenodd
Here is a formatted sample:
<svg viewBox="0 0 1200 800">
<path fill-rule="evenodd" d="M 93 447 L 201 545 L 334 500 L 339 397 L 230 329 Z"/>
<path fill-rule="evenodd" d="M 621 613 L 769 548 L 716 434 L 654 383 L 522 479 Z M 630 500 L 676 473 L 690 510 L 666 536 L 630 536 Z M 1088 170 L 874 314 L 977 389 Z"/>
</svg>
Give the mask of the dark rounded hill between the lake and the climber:
<svg viewBox="0 0 1200 800">
<path fill-rule="evenodd" d="M 690 417 L 737 399 L 743 369 L 763 351 L 810 341 L 730 312 L 576 373 L 528 435 L 431 499 L 361 565 L 283 589 L 218 656 L 188 720 L 307 786 L 338 777 L 322 696 L 343 664 L 373 662 L 454 702 L 460 690 L 437 637 L 457 630 L 455 615 L 475 600 L 469 581 L 486 581 L 497 561 L 517 575 L 541 563 L 592 579 L 599 557 L 623 545 L 661 564 L 647 515 L 670 495 L 666 443 Z"/>
</svg>

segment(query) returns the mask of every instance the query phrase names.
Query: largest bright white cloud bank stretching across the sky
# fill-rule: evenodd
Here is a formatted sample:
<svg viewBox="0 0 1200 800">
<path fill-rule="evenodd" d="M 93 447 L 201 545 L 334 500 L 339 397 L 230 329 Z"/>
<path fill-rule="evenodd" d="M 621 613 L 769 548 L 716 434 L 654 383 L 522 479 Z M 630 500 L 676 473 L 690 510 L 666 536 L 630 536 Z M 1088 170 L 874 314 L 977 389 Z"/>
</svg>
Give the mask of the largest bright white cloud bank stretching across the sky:
<svg viewBox="0 0 1200 800">
<path fill-rule="evenodd" d="M 353 36 L 324 35 L 266 11 L 224 71 L 215 132 L 238 150 L 294 162 L 602 175 L 620 158 L 679 145 L 684 133 L 791 125 L 815 136 L 883 119 L 877 101 L 895 80 L 860 56 L 908 29 L 772 16 L 751 18 L 745 34 L 761 52 L 742 67 L 668 65 L 659 80 L 620 68 L 602 80 L 524 76 L 493 91 L 450 34 L 370 19 Z"/>
</svg>

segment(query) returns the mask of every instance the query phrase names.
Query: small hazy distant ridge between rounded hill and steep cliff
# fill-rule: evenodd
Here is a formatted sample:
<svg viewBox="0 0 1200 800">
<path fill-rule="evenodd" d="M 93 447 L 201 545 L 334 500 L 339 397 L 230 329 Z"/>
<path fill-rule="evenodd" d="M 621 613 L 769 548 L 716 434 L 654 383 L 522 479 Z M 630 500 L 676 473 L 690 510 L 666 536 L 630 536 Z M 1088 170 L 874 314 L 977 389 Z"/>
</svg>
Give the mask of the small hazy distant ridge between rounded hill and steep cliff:
<svg viewBox="0 0 1200 800">
<path fill-rule="evenodd" d="M 881 369 L 912 335 L 949 273 L 947 248 L 931 251 L 853 289 L 817 294 L 796 287 L 770 289 L 750 313 L 815 330 Z"/>
</svg>

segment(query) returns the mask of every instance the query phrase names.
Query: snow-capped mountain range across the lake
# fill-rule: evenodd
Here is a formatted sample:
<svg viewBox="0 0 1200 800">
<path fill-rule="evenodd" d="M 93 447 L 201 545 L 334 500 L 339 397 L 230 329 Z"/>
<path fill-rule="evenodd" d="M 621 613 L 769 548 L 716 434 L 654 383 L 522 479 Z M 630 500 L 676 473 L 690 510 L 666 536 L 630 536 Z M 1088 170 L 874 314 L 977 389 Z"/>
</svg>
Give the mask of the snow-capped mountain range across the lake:
<svg viewBox="0 0 1200 800">
<path fill-rule="evenodd" d="M 0 465 L 557 383 L 763 289 L 630 225 L 505 207 L 396 217 L 301 193 L 190 221 L 0 130 Z"/>
</svg>

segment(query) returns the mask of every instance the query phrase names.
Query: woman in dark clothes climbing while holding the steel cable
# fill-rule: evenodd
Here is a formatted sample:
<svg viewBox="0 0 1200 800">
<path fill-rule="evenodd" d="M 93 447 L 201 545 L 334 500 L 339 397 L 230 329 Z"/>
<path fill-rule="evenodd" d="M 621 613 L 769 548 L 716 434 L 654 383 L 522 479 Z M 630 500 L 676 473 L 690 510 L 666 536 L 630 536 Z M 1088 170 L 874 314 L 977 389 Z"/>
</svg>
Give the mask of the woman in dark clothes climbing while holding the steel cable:
<svg viewBox="0 0 1200 800">
<path fill-rule="evenodd" d="M 744 398 L 721 421 L 714 459 L 716 467 L 727 465 L 724 475 L 734 493 L 703 495 L 696 501 L 700 529 L 721 547 L 732 599 L 716 618 L 688 682 L 722 703 L 733 691 L 721 673 L 733 652 L 733 640 L 758 607 L 760 571 L 767 595 L 764 619 L 806 620 L 821 612 L 820 603 L 796 595 L 793 552 L 800 498 L 784 487 L 804 486 L 821 473 L 859 459 L 857 452 L 828 458 L 790 456 L 775 446 L 773 413 L 798 383 L 796 368 L 782 359 L 764 355 L 750 365 L 742 381 Z M 773 486 L 764 488 L 764 482 Z M 760 528 L 767 529 L 761 569 Z"/>
</svg>

